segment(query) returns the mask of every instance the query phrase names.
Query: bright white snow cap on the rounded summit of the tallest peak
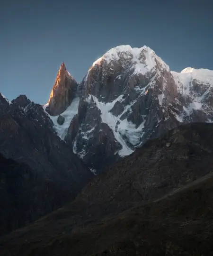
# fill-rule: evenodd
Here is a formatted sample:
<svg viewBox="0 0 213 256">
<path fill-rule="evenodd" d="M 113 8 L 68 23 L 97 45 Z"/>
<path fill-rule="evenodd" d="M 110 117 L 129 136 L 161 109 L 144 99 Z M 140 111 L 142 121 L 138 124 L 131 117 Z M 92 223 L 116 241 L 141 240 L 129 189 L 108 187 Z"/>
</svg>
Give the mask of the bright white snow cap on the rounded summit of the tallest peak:
<svg viewBox="0 0 213 256">
<path fill-rule="evenodd" d="M 107 64 L 113 60 L 117 61 L 121 59 L 121 54 L 132 62 L 135 74 L 145 74 L 150 72 L 156 66 L 156 60 L 158 60 L 163 68 L 169 71 L 169 66 L 148 46 L 143 46 L 141 48 L 132 48 L 129 45 L 116 46 L 96 60 L 92 66 L 100 64 L 102 60 L 105 60 Z M 143 59 L 143 57 L 145 58 Z"/>
</svg>

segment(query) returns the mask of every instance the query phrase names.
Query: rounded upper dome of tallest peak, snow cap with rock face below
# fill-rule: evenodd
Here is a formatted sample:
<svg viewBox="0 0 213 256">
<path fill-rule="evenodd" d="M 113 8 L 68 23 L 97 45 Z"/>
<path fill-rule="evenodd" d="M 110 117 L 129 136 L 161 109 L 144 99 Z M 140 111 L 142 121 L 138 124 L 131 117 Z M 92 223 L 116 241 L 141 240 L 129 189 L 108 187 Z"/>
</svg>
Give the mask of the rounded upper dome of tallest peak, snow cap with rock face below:
<svg viewBox="0 0 213 256">
<path fill-rule="evenodd" d="M 80 87 L 99 101 L 111 102 L 135 87 L 145 87 L 154 75 L 166 76 L 169 66 L 148 46 L 117 46 L 93 63 Z"/>
</svg>

